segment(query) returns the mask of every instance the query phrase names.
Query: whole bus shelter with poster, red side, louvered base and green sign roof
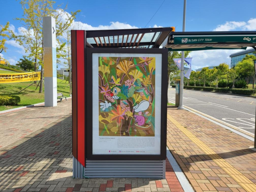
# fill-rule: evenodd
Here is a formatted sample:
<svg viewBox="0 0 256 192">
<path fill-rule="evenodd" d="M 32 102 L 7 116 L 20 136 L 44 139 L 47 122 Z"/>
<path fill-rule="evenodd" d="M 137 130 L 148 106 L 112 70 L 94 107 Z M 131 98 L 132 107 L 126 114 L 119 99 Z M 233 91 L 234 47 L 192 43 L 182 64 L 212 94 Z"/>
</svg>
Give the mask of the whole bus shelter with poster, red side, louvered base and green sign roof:
<svg viewBox="0 0 256 192">
<path fill-rule="evenodd" d="M 255 48 L 255 38 L 174 27 L 72 30 L 73 176 L 165 178 L 168 50 Z"/>
</svg>

